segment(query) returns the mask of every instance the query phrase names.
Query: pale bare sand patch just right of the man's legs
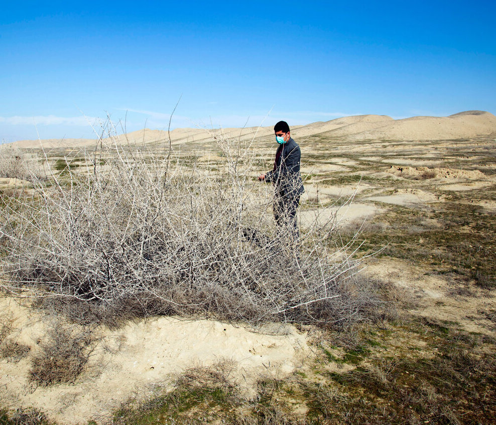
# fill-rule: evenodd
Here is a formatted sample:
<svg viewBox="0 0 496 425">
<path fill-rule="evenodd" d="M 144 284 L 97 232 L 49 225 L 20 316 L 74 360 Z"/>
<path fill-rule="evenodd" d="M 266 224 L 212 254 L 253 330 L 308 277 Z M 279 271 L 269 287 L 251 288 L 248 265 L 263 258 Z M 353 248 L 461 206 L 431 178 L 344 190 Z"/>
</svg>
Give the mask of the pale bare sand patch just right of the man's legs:
<svg viewBox="0 0 496 425">
<path fill-rule="evenodd" d="M 380 212 L 383 208 L 373 204 L 355 203 L 346 204 L 342 206 L 326 206 L 315 209 L 303 209 L 299 213 L 301 226 L 303 228 L 317 225 L 336 225 L 345 226 L 346 224 L 355 220 L 366 220 L 372 218 Z"/>
</svg>

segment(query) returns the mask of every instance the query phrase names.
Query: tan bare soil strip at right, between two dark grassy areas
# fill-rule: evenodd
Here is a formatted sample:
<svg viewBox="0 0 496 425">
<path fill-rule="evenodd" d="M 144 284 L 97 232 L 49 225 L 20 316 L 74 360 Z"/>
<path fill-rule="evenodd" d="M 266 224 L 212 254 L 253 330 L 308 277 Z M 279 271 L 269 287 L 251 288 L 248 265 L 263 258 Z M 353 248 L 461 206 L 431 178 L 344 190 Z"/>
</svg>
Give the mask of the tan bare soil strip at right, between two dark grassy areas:
<svg viewBox="0 0 496 425">
<path fill-rule="evenodd" d="M 484 312 L 489 313 L 496 305 L 493 291 L 470 285 L 472 296 L 450 295 L 449 282 L 444 277 L 430 276 L 421 267 L 395 259 L 371 264 L 365 273 L 411 291 L 418 306 L 409 310 L 410 313 L 459 323 L 468 332 L 496 336 L 494 323 L 484 315 Z"/>
</svg>

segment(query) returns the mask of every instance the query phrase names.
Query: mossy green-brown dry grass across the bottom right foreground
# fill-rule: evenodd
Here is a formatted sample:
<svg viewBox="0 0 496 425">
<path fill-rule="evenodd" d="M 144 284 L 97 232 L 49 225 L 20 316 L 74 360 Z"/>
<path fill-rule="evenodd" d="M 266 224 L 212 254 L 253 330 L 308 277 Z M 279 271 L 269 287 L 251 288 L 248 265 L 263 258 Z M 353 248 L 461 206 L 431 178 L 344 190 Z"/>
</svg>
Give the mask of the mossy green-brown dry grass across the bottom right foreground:
<svg viewBox="0 0 496 425">
<path fill-rule="evenodd" d="M 386 341 L 400 336 L 408 346 L 384 351 Z M 323 350 L 309 375 L 261 378 L 253 398 L 232 380 L 235 365 L 220 362 L 185 371 L 170 391 L 123 404 L 112 423 L 492 424 L 495 363 L 480 349 L 494 341 L 483 339 L 425 319 L 362 329 L 338 357 Z M 416 341 L 429 350 L 412 350 Z M 355 367 L 335 371 L 345 363 Z"/>
</svg>

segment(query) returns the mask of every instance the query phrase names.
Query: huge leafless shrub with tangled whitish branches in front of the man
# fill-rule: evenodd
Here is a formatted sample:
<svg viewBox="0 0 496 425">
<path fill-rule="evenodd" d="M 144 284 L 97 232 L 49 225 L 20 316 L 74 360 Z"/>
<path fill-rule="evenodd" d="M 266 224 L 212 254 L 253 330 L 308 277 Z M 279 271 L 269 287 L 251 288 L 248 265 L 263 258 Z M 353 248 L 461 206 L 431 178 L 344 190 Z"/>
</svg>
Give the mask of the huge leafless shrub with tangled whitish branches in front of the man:
<svg viewBox="0 0 496 425">
<path fill-rule="evenodd" d="M 79 312 L 89 303 L 108 322 L 129 311 L 249 324 L 363 319 L 378 298 L 350 280 L 356 238 L 335 246 L 334 228 L 316 222 L 294 244 L 254 188 L 250 143 L 217 142 L 216 172 L 115 145 L 52 173 L 1 211 L 4 288 L 73 300 Z"/>
</svg>

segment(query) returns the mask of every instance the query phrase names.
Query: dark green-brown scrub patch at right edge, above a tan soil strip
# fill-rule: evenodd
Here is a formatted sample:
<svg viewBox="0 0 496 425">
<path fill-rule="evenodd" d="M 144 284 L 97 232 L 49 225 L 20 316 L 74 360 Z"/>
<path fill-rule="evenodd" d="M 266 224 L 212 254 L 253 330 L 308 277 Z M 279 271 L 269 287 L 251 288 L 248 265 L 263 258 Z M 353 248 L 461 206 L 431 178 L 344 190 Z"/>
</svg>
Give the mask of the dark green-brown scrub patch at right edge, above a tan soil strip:
<svg viewBox="0 0 496 425">
<path fill-rule="evenodd" d="M 386 246 L 380 256 L 425 264 L 431 272 L 492 289 L 496 287 L 495 226 L 496 216 L 477 205 L 446 201 L 422 211 L 395 205 L 363 227 L 365 243 L 360 249 Z M 353 228 L 342 232 L 343 237 L 346 234 L 352 238 Z"/>
</svg>

